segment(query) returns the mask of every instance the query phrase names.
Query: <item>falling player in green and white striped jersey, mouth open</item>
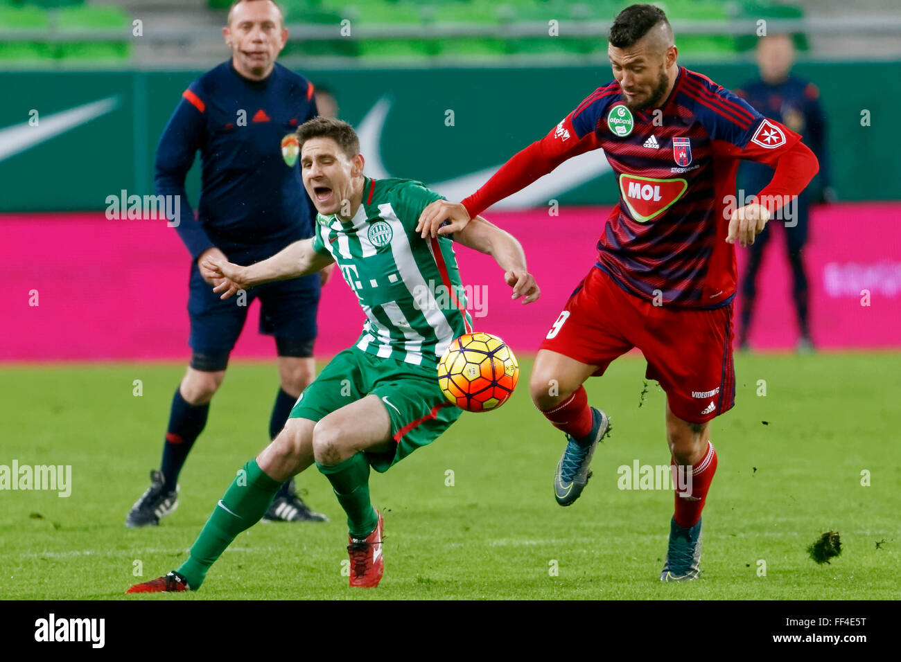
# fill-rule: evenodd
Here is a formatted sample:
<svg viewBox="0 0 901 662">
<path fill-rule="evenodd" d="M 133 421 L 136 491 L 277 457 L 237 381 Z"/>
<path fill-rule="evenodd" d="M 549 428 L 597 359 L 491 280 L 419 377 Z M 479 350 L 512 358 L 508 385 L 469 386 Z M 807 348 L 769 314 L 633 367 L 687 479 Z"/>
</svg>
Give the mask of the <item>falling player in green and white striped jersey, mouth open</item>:
<svg viewBox="0 0 901 662">
<path fill-rule="evenodd" d="M 128 593 L 199 588 L 232 540 L 263 516 L 278 486 L 314 463 L 347 512 L 350 585 L 377 586 L 384 523 L 369 500 L 369 467 L 386 471 L 460 416 L 436 374 L 451 340 L 470 331 L 452 241 L 495 258 L 514 299 L 529 304 L 541 294 L 523 247 L 481 217 L 452 241 L 423 239 L 415 230 L 420 213 L 441 195 L 409 179 L 366 177 L 347 122 L 316 117 L 297 139 L 304 186 L 318 211 L 314 237 L 250 267 L 221 258 L 205 267 L 219 277 L 214 292 L 228 298 L 337 262 L 366 313 L 363 331 L 305 388 L 275 440 L 238 472 L 187 561 Z"/>
</svg>

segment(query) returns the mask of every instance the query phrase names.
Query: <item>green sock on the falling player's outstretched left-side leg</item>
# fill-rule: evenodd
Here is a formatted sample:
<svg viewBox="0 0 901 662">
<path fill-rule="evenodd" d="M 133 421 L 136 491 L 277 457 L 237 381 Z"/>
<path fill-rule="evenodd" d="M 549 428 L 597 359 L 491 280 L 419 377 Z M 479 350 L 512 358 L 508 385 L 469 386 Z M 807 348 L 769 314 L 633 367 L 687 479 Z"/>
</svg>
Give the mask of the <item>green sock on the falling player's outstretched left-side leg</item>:
<svg viewBox="0 0 901 662">
<path fill-rule="evenodd" d="M 244 465 L 216 504 L 203 531 L 200 531 L 191 548 L 190 558 L 176 570 L 187 579 L 187 585 L 193 590 L 200 588 L 206 571 L 222 556 L 232 540 L 266 514 L 280 485 L 259 468 L 257 460 L 251 459 Z"/>
</svg>

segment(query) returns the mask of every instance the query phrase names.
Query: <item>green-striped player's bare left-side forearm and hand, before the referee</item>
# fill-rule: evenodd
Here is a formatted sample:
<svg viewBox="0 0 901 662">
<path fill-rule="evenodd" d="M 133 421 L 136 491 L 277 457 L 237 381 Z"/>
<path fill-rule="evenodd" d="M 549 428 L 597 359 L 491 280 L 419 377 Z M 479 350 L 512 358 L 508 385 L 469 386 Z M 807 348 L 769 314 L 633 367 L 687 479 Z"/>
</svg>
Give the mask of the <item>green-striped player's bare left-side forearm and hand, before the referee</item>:
<svg viewBox="0 0 901 662">
<path fill-rule="evenodd" d="M 250 287 L 314 274 L 332 263 L 332 256 L 313 249 L 313 240 L 295 241 L 278 251 L 271 258 L 264 259 L 250 267 L 241 267 L 232 262 L 215 258 L 204 258 L 203 267 L 213 272 L 221 282 L 213 288 L 220 298 L 227 299 Z"/>
</svg>

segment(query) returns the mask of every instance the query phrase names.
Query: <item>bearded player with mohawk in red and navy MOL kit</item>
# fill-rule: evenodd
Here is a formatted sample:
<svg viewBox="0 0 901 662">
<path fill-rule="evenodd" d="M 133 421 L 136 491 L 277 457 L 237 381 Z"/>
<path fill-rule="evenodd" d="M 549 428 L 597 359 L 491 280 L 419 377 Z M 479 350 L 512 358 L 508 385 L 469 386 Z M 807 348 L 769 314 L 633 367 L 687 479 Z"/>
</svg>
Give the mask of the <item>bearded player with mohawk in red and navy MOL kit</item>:
<svg viewBox="0 0 901 662">
<path fill-rule="evenodd" d="M 659 8 L 624 9 L 610 30 L 614 81 L 588 95 L 462 203 L 426 207 L 418 227 L 423 236 L 459 231 L 566 159 L 604 150 L 620 202 L 602 224 L 596 265 L 542 342 L 530 388 L 534 404 L 566 433 L 554 492 L 560 505 L 569 505 L 586 485 L 596 445 L 610 429 L 606 414 L 588 406 L 582 384 L 633 347 L 642 350 L 646 376 L 667 394 L 677 488 L 663 581 L 698 575 L 701 511 L 716 471 L 710 422 L 734 404 L 733 244 L 751 245 L 818 168 L 797 133 L 679 67 L 677 53 Z M 775 172 L 755 202 L 736 209 L 740 159 Z"/>
</svg>

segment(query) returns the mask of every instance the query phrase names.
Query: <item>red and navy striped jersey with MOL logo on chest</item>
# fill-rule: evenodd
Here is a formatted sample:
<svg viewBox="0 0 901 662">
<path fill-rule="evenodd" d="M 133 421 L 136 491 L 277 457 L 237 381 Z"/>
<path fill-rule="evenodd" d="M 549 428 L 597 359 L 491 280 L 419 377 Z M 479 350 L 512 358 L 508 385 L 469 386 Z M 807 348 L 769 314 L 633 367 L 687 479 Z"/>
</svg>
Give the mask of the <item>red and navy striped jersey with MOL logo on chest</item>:
<svg viewBox="0 0 901 662">
<path fill-rule="evenodd" d="M 735 294 L 725 238 L 740 159 L 774 165 L 800 136 L 709 78 L 679 68 L 659 109 L 630 112 L 615 81 L 599 87 L 541 141 L 553 163 L 604 150 L 620 200 L 597 240 L 597 266 L 659 304 L 712 308 Z"/>
</svg>

